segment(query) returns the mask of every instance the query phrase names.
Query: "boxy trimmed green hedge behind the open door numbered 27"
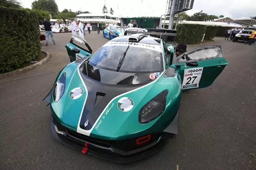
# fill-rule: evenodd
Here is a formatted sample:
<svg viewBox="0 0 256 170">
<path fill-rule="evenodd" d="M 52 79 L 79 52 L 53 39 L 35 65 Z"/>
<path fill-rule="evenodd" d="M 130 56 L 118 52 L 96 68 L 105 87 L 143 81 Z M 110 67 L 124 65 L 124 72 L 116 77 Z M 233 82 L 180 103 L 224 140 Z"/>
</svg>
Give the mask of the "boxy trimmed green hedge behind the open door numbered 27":
<svg viewBox="0 0 256 170">
<path fill-rule="evenodd" d="M 201 43 L 207 26 L 198 24 L 179 24 L 177 26 L 178 43 L 197 44 Z"/>
</svg>

